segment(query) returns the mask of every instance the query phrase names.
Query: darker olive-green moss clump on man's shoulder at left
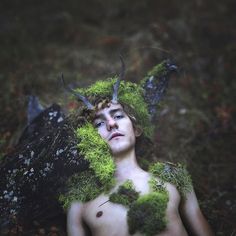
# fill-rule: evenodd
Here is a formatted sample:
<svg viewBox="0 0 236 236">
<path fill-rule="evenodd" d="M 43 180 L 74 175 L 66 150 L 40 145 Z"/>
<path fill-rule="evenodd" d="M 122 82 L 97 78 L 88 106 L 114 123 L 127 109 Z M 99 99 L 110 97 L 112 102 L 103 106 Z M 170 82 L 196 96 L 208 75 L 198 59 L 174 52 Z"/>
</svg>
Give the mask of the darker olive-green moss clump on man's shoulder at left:
<svg viewBox="0 0 236 236">
<path fill-rule="evenodd" d="M 71 176 L 66 183 L 66 190 L 60 194 L 59 201 L 67 209 L 73 201 L 87 202 L 103 191 L 98 179 L 92 171 L 84 171 Z"/>
</svg>

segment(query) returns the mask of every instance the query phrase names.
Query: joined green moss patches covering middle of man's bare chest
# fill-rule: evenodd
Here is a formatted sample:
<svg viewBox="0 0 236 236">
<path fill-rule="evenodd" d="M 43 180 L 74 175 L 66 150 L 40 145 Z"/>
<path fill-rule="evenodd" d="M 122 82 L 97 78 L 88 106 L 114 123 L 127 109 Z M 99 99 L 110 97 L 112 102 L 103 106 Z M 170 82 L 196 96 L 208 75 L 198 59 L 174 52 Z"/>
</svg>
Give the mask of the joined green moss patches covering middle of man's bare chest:
<svg viewBox="0 0 236 236">
<path fill-rule="evenodd" d="M 130 234 L 139 231 L 147 236 L 160 233 L 166 228 L 166 209 L 169 200 L 163 186 L 156 186 L 155 178 L 149 182 L 153 192 L 140 195 L 131 180 L 119 186 L 117 192 L 110 195 L 111 202 L 128 207 L 127 219 Z"/>
</svg>

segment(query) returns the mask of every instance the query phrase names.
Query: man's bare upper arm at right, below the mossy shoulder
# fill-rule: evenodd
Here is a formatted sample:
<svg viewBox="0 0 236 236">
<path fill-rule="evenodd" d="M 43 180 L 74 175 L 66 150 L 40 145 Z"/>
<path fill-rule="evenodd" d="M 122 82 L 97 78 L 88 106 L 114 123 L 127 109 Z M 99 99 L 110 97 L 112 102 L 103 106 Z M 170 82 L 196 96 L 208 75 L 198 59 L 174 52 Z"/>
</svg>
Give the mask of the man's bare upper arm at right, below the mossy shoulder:
<svg viewBox="0 0 236 236">
<path fill-rule="evenodd" d="M 191 235 L 214 235 L 199 207 L 194 190 L 186 195 L 180 204 L 181 218 Z"/>
</svg>

